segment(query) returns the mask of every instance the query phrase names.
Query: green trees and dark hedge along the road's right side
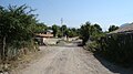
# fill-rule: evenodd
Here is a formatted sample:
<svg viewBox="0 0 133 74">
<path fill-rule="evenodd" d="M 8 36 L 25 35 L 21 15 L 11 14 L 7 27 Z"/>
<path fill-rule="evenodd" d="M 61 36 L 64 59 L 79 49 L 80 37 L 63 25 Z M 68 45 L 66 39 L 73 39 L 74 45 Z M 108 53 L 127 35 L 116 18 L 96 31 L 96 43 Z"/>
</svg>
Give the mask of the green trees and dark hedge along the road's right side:
<svg viewBox="0 0 133 74">
<path fill-rule="evenodd" d="M 133 66 L 133 34 L 111 33 L 117 29 L 119 27 L 110 25 L 109 31 L 103 32 L 99 24 L 86 22 L 80 28 L 80 38 L 86 50 L 116 64 Z"/>
</svg>

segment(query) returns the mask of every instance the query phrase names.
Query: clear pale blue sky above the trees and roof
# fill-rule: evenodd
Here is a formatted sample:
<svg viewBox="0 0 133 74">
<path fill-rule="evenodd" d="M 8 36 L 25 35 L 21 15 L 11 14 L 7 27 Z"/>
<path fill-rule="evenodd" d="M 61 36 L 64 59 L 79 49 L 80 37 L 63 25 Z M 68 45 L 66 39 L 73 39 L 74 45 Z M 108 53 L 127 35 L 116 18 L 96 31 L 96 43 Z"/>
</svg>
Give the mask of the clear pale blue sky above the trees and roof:
<svg viewBox="0 0 133 74">
<path fill-rule="evenodd" d="M 27 4 L 37 9 L 39 22 L 80 28 L 86 21 L 106 31 L 110 25 L 133 22 L 133 0 L 0 0 L 0 6 Z"/>
</svg>

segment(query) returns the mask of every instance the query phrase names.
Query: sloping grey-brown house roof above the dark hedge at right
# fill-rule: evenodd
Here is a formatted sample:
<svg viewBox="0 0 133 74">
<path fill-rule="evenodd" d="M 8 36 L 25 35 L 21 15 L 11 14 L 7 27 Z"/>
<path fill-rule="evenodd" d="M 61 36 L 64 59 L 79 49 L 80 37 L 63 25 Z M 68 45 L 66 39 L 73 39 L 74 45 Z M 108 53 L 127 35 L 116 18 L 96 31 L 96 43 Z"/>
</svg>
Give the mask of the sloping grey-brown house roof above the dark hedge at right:
<svg viewBox="0 0 133 74">
<path fill-rule="evenodd" d="M 122 27 L 113 32 L 110 32 L 109 34 L 113 33 L 126 33 L 126 32 L 133 32 L 133 23 L 126 27 Z"/>
</svg>

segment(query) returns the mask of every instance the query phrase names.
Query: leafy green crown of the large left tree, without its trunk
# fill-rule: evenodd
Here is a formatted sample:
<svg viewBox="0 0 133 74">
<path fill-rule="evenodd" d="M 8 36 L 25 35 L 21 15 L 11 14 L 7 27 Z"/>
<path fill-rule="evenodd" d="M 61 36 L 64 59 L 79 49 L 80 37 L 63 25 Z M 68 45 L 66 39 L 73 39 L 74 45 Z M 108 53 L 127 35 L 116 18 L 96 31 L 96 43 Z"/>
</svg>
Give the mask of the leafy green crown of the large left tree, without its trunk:
<svg viewBox="0 0 133 74">
<path fill-rule="evenodd" d="M 28 7 L 9 6 L 1 12 L 0 28 L 1 35 L 8 38 L 10 43 L 13 40 L 30 40 L 35 28 L 34 14 L 25 12 Z M 16 34 L 16 36 L 14 36 Z"/>
</svg>

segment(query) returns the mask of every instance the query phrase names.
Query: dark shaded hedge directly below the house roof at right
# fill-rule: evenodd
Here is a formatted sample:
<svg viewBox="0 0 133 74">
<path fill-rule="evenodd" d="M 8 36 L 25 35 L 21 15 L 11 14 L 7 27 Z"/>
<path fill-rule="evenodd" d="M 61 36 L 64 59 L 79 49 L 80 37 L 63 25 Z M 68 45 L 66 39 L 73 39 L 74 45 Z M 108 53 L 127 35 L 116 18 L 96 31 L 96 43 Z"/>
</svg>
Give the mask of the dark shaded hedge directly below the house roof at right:
<svg viewBox="0 0 133 74">
<path fill-rule="evenodd" d="M 101 53 L 120 64 L 133 63 L 133 34 L 111 34 L 100 41 Z"/>
</svg>

